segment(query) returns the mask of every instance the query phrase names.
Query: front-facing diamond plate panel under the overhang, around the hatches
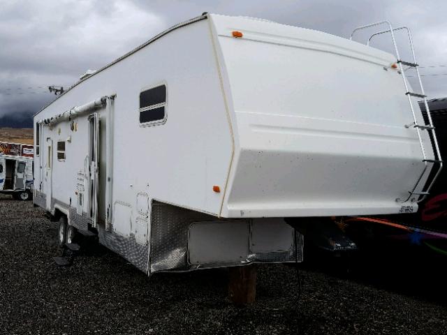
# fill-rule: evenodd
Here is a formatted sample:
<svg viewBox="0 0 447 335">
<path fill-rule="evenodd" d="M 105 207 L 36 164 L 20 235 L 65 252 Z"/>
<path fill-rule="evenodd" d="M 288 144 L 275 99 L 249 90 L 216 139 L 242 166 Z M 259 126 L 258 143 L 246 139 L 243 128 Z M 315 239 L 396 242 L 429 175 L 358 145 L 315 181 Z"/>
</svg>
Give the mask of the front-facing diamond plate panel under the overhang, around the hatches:
<svg viewBox="0 0 447 335">
<path fill-rule="evenodd" d="M 190 209 L 176 207 L 161 202 L 152 203 L 150 230 L 149 271 L 189 271 L 209 267 L 246 265 L 251 262 L 301 262 L 303 236 L 295 232 L 295 245 L 288 251 L 272 253 L 248 252 L 247 258 L 237 262 L 191 265 L 188 261 L 189 228 L 194 222 L 217 221 L 219 218 Z M 226 221 L 227 219 L 220 219 Z M 235 221 L 235 219 L 231 219 Z M 239 219 L 250 223 L 251 219 Z M 249 245 L 247 236 L 247 245 Z"/>
</svg>

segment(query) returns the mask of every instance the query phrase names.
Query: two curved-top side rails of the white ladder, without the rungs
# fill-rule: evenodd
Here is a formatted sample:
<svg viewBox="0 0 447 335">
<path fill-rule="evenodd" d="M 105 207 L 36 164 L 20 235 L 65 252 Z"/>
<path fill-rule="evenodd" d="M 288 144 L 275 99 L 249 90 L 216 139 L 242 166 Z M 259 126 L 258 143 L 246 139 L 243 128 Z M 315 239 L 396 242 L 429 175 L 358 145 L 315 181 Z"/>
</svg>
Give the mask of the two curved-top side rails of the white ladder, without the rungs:
<svg viewBox="0 0 447 335">
<path fill-rule="evenodd" d="M 416 202 L 421 202 L 421 201 L 425 200 L 425 198 L 427 197 L 427 194 L 430 192 L 430 189 L 434 185 L 434 182 L 438 179 L 439 174 L 441 173 L 441 170 L 443 168 L 443 163 L 441 161 L 441 151 L 439 149 L 437 135 L 434 132 L 432 115 L 430 113 L 430 108 L 428 107 L 428 103 L 427 103 L 427 96 L 425 96 L 425 90 L 424 90 L 423 83 L 422 83 L 422 80 L 420 78 L 420 73 L 419 73 L 419 70 L 418 70 L 418 65 L 417 65 L 417 61 L 416 61 L 416 53 L 414 52 L 413 38 L 411 36 L 411 31 L 410 31 L 410 29 L 408 27 L 405 27 L 405 26 L 397 27 L 397 28 L 393 29 L 393 26 L 390 24 L 390 22 L 388 22 L 388 21 L 381 21 L 381 22 L 375 22 L 375 23 L 372 23 L 372 24 L 366 24 L 364 26 L 357 27 L 356 29 L 354 29 L 352 31 L 351 36 L 350 36 L 349 39 L 352 40 L 354 34 L 357 31 L 359 31 L 359 30 L 367 29 L 367 28 L 370 28 L 370 27 L 375 27 L 375 26 L 379 26 L 379 25 L 383 25 L 383 24 L 387 24 L 389 29 L 388 30 L 383 30 L 383 31 L 377 31 L 376 33 L 374 33 L 371 36 L 369 36 L 369 38 L 367 40 L 367 45 L 369 46 L 369 43 L 371 42 L 372 38 L 374 38 L 375 36 L 378 36 L 378 35 L 381 35 L 381 34 L 386 34 L 386 33 L 390 33 L 391 38 L 393 40 L 393 46 L 395 48 L 395 54 L 396 54 L 396 57 L 397 57 L 397 63 L 399 64 L 400 74 L 402 75 L 402 80 L 404 81 L 404 87 L 405 87 L 406 96 L 408 98 L 409 105 L 410 105 L 410 108 L 411 108 L 411 114 L 413 114 L 413 120 L 414 120 L 414 124 L 415 124 L 415 128 L 416 128 L 416 132 L 418 134 L 418 140 L 419 140 L 419 143 L 420 143 L 420 149 L 421 149 L 422 154 L 423 154 L 423 163 L 424 163 L 423 171 L 421 172 L 420 176 L 418 177 L 418 179 L 416 181 L 416 184 L 413 186 L 411 191 L 409 191 L 408 198 L 406 198 L 406 200 L 404 200 L 403 202 L 409 201 L 413 195 L 418 195 L 418 197 L 416 199 Z M 405 72 L 404 72 L 404 66 L 402 64 L 402 60 L 400 59 L 400 53 L 399 53 L 399 49 L 397 47 L 395 34 L 394 34 L 395 31 L 402 30 L 402 29 L 406 31 L 407 36 L 409 38 L 409 44 L 410 44 L 410 48 L 411 48 L 411 57 L 413 57 L 413 67 L 416 69 L 416 74 L 417 74 L 417 77 L 418 77 L 418 83 L 419 83 L 420 91 L 421 91 L 421 93 L 423 95 L 423 101 L 424 101 L 424 105 L 425 105 L 425 110 L 427 111 L 427 119 L 429 121 L 429 127 L 419 127 L 418 126 L 416 112 L 415 112 L 414 107 L 413 107 L 413 101 L 411 101 L 411 94 L 410 94 L 411 91 L 409 90 L 409 83 L 408 83 L 408 80 L 407 80 Z M 431 160 L 427 160 L 427 153 L 425 151 L 425 147 L 424 147 L 424 144 L 423 144 L 423 137 L 421 135 L 421 131 L 422 130 L 425 130 L 427 132 L 430 132 L 430 131 L 432 132 L 431 138 L 432 138 L 432 142 L 434 144 L 432 146 L 432 149 L 434 149 L 433 150 L 434 151 L 433 154 L 434 154 L 434 158 L 435 158 L 434 161 L 432 161 L 432 162 L 430 162 Z M 423 177 L 425 176 L 425 173 L 427 172 L 428 163 L 433 163 L 433 165 L 434 165 L 434 163 L 439 163 L 439 168 L 437 169 L 436 174 L 434 174 L 434 177 L 432 178 L 432 180 L 430 182 L 428 182 L 428 180 L 425 181 L 425 185 L 422 186 L 422 192 L 418 193 L 418 192 L 416 192 L 416 189 L 420 185 L 420 182 L 423 180 Z M 430 170 L 430 173 L 431 172 L 432 172 L 432 170 Z M 429 177 L 430 177 L 430 174 L 427 176 L 427 179 Z M 427 185 L 427 182 L 428 182 L 428 185 Z M 424 188 L 425 188 L 425 191 L 424 191 Z M 421 195 L 422 195 L 422 198 L 421 198 Z"/>
</svg>

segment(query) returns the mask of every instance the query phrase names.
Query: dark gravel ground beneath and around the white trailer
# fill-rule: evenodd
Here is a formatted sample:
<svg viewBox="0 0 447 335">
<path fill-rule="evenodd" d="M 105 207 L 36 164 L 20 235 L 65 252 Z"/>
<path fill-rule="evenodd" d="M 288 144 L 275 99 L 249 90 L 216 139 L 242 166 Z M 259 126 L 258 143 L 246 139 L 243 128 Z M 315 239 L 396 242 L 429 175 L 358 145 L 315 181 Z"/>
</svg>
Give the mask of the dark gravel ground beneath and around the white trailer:
<svg viewBox="0 0 447 335">
<path fill-rule="evenodd" d="M 299 299 L 293 267 L 259 266 L 257 301 L 240 308 L 222 269 L 147 278 L 96 245 L 57 267 L 56 234 L 31 202 L 0 195 L 1 334 L 447 334 L 445 257 L 376 253 L 349 274 L 316 258 Z"/>
</svg>

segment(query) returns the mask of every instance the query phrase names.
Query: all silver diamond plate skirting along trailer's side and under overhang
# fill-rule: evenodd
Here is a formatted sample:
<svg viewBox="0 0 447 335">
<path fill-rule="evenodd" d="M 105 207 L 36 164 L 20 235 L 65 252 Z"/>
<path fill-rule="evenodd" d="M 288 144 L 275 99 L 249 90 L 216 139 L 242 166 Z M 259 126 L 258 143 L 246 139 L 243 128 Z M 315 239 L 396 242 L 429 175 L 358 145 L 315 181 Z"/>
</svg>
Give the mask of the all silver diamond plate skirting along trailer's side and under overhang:
<svg viewBox="0 0 447 335">
<path fill-rule="evenodd" d="M 45 194 L 34 191 L 34 204 L 45 208 Z M 52 200 L 52 208 L 54 208 L 54 204 L 68 211 L 69 224 L 78 228 L 78 230 L 89 230 L 91 219 L 87 214 L 79 215 L 75 208 L 57 200 Z M 115 232 L 106 231 L 101 223 L 97 226 L 99 242 L 111 251 L 122 255 L 135 267 L 149 275 L 157 271 L 191 271 L 198 268 L 246 265 L 251 262 L 300 262 L 302 260 L 303 237 L 302 234 L 295 232 L 295 245 L 288 251 L 272 253 L 248 251 L 244 259 L 235 262 L 191 264 L 188 259 L 189 229 L 191 224 L 227 220 L 249 223 L 250 232 L 247 235 L 247 245 L 249 245 L 251 219 L 219 219 L 212 215 L 156 201 L 152 202 L 150 217 L 150 243 L 146 246 L 138 244 L 133 234 L 130 237 L 123 237 Z"/>
</svg>

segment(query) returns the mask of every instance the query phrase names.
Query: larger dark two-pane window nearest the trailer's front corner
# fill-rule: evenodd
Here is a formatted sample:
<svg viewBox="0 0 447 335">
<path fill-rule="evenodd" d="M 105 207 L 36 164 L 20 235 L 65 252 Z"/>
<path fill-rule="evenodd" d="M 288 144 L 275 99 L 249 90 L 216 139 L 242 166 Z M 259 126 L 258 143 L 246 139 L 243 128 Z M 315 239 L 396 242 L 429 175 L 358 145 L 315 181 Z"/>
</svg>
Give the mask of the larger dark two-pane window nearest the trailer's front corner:
<svg viewBox="0 0 447 335">
<path fill-rule="evenodd" d="M 157 123 L 166 119 L 166 85 L 140 93 L 140 124 Z"/>
</svg>

